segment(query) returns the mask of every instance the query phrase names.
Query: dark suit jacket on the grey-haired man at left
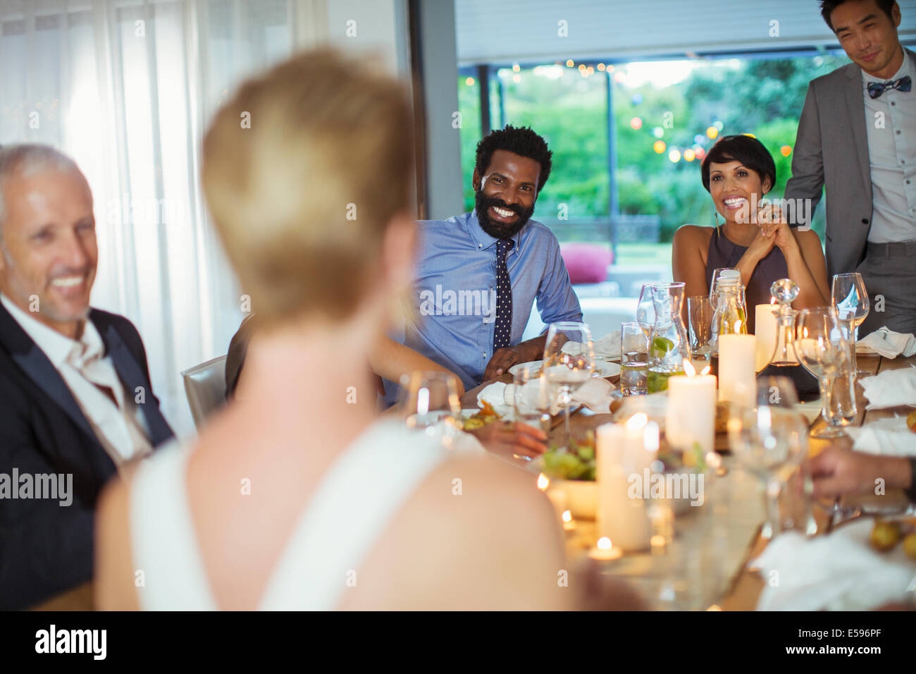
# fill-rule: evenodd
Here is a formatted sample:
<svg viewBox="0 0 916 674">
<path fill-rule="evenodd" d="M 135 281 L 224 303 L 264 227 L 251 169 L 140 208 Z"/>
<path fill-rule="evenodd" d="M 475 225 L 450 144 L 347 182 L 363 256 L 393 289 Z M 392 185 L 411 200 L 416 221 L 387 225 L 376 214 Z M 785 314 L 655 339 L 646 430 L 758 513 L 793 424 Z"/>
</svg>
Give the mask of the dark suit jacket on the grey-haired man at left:
<svg viewBox="0 0 916 674">
<path fill-rule="evenodd" d="M 158 446 L 173 434 L 149 385 L 136 327 L 97 309 L 90 320 L 125 392 L 144 387 L 140 407 Z M 11 479 L 14 469 L 70 473 L 72 503 L 0 498 L 0 609 L 26 608 L 92 578 L 95 502 L 116 473 L 58 371 L 0 304 L 0 473 Z"/>
</svg>

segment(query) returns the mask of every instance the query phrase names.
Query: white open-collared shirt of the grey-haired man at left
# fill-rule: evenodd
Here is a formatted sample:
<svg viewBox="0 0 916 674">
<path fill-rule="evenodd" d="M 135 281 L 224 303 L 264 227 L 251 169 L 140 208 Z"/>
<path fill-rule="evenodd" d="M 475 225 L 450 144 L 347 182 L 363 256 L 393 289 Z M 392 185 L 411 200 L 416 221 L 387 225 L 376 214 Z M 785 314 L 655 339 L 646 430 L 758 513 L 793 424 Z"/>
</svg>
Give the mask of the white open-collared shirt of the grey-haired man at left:
<svg viewBox="0 0 916 674">
<path fill-rule="evenodd" d="M 133 392 L 125 394 L 93 322 L 83 321 L 77 341 L 28 315 L 3 294 L 0 302 L 58 370 L 114 465 L 120 468 L 126 461 L 149 454 L 152 445 L 146 419 L 134 403 Z M 97 384 L 110 388 L 117 404 Z"/>
</svg>

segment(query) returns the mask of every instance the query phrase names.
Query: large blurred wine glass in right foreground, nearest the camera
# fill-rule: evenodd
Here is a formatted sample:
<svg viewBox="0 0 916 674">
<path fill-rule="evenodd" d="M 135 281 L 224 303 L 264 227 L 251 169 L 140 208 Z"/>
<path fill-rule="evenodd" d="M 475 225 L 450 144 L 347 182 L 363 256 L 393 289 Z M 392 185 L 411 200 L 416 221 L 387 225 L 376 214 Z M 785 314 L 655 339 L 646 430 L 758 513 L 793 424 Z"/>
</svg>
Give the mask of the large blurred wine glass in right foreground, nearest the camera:
<svg viewBox="0 0 916 674">
<path fill-rule="evenodd" d="M 753 406 L 732 403 L 728 444 L 742 467 L 763 485 L 767 520 L 761 536 L 780 533 L 780 492 L 808 454 L 808 432 L 795 410 L 798 396 L 787 377 L 760 377 Z"/>
</svg>

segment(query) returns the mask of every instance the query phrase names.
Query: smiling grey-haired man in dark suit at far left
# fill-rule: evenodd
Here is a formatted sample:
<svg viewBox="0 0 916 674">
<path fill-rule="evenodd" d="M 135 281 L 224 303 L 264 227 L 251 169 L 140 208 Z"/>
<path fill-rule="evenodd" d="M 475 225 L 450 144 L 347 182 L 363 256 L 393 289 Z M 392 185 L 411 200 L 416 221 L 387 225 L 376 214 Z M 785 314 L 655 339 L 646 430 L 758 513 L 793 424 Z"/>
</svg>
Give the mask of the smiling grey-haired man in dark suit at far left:
<svg viewBox="0 0 916 674">
<path fill-rule="evenodd" d="M 89 306 L 97 255 L 76 165 L 0 149 L 0 609 L 90 580 L 105 481 L 172 437 L 136 328 Z"/>
</svg>

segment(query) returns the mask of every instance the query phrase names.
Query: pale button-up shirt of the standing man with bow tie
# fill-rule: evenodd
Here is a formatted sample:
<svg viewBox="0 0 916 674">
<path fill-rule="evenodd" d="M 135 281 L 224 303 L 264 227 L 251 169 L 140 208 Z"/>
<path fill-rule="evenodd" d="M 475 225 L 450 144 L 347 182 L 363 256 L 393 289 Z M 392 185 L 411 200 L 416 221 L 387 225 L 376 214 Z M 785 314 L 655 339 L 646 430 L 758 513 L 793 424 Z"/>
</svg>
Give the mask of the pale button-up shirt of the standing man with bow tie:
<svg viewBox="0 0 916 674">
<path fill-rule="evenodd" d="M 898 80 L 904 75 L 916 81 L 906 50 L 900 70 L 889 79 Z M 916 89 L 887 89 L 872 98 L 868 95 L 869 82 L 888 80 L 862 71 L 873 208 L 868 241 L 910 241 L 916 239 Z M 884 126 L 876 127 L 882 118 Z"/>
</svg>

